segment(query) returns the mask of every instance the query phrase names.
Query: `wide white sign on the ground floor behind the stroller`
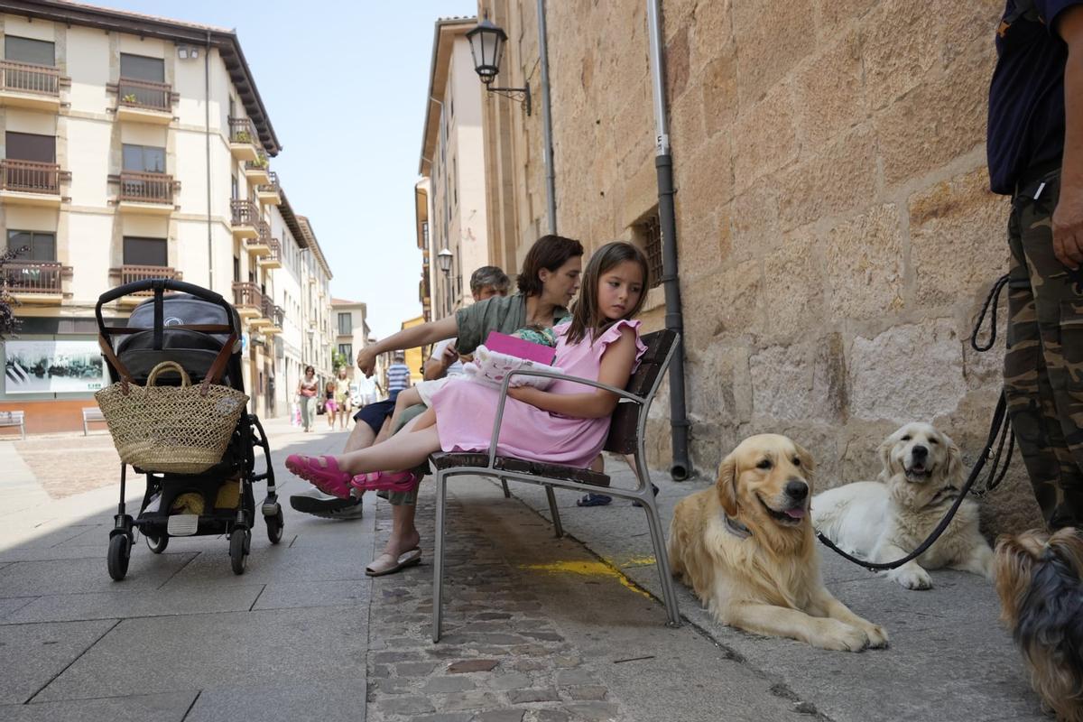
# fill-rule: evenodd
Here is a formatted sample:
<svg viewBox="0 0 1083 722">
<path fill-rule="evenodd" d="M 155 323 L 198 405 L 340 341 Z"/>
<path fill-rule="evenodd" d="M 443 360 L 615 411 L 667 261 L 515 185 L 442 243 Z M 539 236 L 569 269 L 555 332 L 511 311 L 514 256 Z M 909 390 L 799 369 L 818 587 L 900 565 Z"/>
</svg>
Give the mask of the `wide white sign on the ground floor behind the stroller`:
<svg viewBox="0 0 1083 722">
<path fill-rule="evenodd" d="M 96 341 L 5 341 L 4 392 L 69 394 L 105 385 Z"/>
</svg>

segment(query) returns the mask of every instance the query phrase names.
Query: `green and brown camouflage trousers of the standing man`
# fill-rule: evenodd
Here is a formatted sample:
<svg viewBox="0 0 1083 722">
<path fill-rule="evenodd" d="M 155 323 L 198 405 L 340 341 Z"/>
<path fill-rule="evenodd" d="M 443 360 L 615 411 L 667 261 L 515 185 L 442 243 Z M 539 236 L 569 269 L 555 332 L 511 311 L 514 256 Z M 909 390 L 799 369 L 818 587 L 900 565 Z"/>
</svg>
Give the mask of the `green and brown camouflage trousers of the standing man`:
<svg viewBox="0 0 1083 722">
<path fill-rule="evenodd" d="M 1083 268 L 1053 254 L 1058 178 L 1016 195 L 1004 392 L 1016 442 L 1051 529 L 1083 523 Z"/>
</svg>

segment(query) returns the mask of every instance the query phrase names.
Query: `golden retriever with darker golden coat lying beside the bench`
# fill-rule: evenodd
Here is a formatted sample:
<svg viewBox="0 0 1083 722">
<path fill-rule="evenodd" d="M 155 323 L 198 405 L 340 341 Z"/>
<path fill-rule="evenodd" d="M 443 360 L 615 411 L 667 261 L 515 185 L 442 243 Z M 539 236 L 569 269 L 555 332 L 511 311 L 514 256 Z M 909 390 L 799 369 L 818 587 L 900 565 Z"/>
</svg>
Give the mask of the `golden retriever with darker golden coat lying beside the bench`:
<svg viewBox="0 0 1083 722">
<path fill-rule="evenodd" d="M 743 441 L 713 488 L 674 510 L 674 575 L 723 625 L 824 649 L 887 646 L 887 632 L 832 596 L 809 522 L 812 458 L 785 436 Z"/>
</svg>

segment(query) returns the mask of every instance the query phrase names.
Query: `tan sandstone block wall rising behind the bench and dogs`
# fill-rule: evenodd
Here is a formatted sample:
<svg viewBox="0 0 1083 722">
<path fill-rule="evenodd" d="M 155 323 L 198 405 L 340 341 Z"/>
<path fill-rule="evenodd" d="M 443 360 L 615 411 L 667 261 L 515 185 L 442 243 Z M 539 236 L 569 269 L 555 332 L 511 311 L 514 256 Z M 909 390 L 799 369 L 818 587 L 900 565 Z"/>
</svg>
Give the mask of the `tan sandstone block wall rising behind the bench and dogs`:
<svg viewBox="0 0 1083 722">
<path fill-rule="evenodd" d="M 481 4 L 516 16 L 522 39 L 505 62 L 532 67 L 534 3 Z M 657 201 L 644 5 L 547 3 L 559 231 L 591 247 L 631 238 Z M 979 450 L 1003 354 L 968 345 L 1007 270 L 1007 202 L 984 167 L 1002 8 L 663 2 L 700 473 L 761 431 L 807 446 L 821 488 L 873 478 L 876 446 L 906 421 L 935 422 L 967 461 Z M 530 155 L 540 127 L 521 130 L 491 143 L 493 158 Z M 544 187 L 537 166 L 518 170 Z M 533 211 L 544 219 L 544 205 Z M 533 228 L 517 227 L 525 248 Z M 652 291 L 649 326 L 662 326 L 661 302 Z M 665 467 L 668 404 L 655 409 L 652 461 Z M 1016 467 L 987 504 L 990 530 L 1036 521 Z"/>
</svg>

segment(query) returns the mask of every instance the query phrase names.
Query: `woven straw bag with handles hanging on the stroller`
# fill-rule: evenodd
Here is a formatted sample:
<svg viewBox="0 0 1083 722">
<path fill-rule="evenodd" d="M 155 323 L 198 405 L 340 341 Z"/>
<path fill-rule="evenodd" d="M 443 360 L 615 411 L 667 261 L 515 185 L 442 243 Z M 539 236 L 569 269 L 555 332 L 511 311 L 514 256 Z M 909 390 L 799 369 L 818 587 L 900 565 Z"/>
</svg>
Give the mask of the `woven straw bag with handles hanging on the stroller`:
<svg viewBox="0 0 1083 722">
<path fill-rule="evenodd" d="M 154 385 L 164 371 L 180 373 L 181 385 Z M 121 380 L 94 398 L 125 463 L 174 474 L 198 474 L 219 463 L 248 404 L 246 394 L 209 378 L 192 385 L 175 362 L 155 366 L 145 386 Z"/>
</svg>

